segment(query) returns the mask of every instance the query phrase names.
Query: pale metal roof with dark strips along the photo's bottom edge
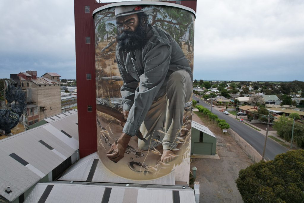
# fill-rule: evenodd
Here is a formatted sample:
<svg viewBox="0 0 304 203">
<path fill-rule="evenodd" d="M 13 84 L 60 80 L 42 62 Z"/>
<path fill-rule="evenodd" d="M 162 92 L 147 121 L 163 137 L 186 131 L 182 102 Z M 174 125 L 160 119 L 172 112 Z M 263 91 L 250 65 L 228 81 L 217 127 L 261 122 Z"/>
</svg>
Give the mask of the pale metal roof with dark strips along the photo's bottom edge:
<svg viewBox="0 0 304 203">
<path fill-rule="evenodd" d="M 46 190 L 50 188 L 50 190 Z M 186 186 L 66 183 L 38 183 L 25 202 L 195 202 L 194 191 Z M 179 201 L 176 201 L 179 200 Z"/>
</svg>

